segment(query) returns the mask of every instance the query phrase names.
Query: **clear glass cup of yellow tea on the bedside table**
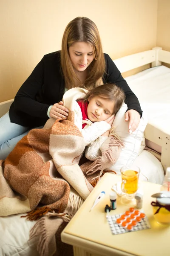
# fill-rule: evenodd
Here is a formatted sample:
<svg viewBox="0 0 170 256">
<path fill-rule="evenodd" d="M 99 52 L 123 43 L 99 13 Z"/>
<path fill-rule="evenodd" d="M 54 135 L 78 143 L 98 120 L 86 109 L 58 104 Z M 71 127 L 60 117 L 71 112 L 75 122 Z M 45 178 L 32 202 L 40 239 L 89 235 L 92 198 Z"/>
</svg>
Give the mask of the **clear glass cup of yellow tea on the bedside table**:
<svg viewBox="0 0 170 256">
<path fill-rule="evenodd" d="M 125 193 L 121 202 L 127 206 L 134 206 L 136 204 L 134 196 L 138 190 L 140 169 L 138 166 L 122 166 L 120 172 L 122 177 L 121 189 Z"/>
</svg>

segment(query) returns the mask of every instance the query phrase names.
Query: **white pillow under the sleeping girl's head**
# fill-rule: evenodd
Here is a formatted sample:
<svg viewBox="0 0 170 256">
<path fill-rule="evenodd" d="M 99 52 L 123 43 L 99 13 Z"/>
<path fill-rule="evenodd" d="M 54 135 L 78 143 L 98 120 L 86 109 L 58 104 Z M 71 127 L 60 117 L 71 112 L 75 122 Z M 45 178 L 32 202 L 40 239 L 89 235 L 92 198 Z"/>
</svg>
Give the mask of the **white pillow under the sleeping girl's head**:
<svg viewBox="0 0 170 256">
<path fill-rule="evenodd" d="M 122 107 L 117 112 L 113 125 L 115 127 L 116 134 L 119 135 L 120 139 L 124 143 L 124 148 L 120 153 L 120 156 L 116 163 L 107 168 L 106 170 L 114 170 L 117 174 L 120 174 L 120 168 L 123 165 L 132 165 L 139 153 L 144 149 L 144 129 L 147 125 L 147 116 L 143 113 L 142 118 L 136 131 L 129 134 L 129 121 L 125 122 L 125 112 L 127 105 L 122 104 Z"/>
</svg>

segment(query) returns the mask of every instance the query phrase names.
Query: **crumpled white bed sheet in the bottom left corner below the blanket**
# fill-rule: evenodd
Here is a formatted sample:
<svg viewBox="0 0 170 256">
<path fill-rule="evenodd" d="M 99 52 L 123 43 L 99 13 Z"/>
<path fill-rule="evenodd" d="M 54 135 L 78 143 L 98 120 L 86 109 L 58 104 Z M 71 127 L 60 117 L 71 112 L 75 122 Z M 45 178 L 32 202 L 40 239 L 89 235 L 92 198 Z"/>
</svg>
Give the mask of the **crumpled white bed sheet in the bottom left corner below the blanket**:
<svg viewBox="0 0 170 256">
<path fill-rule="evenodd" d="M 0 256 L 39 256 L 37 239 L 29 240 L 36 221 L 20 218 L 25 214 L 0 217 Z"/>
</svg>

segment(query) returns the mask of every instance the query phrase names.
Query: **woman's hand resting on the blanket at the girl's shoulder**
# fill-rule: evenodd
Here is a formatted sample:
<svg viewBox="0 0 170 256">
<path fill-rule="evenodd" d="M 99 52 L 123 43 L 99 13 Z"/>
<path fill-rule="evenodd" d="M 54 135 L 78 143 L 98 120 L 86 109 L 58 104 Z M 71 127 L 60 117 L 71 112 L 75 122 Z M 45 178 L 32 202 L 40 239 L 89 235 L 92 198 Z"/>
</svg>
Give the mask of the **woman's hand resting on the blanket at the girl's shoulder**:
<svg viewBox="0 0 170 256">
<path fill-rule="evenodd" d="M 63 102 L 55 103 L 50 110 L 50 117 L 61 119 L 68 116 L 68 109 L 63 106 Z"/>
</svg>

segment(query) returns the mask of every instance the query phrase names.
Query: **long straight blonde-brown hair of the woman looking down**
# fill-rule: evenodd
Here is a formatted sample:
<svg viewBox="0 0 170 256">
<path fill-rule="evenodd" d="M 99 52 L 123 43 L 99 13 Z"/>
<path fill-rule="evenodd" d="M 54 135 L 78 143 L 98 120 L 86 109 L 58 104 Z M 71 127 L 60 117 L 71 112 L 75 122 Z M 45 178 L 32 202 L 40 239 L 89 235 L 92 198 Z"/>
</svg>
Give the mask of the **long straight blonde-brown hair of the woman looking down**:
<svg viewBox="0 0 170 256">
<path fill-rule="evenodd" d="M 94 60 L 88 67 L 88 76 L 83 85 L 74 72 L 68 52 L 69 47 L 75 42 L 91 44 L 94 52 Z M 105 73 L 105 58 L 102 52 L 99 31 L 95 23 L 87 17 L 77 17 L 68 23 L 62 37 L 61 67 L 65 79 L 65 87 L 68 89 L 75 87 L 75 80 L 79 82 L 79 87 L 84 87 L 88 90 L 103 84 L 102 77 Z"/>
</svg>

